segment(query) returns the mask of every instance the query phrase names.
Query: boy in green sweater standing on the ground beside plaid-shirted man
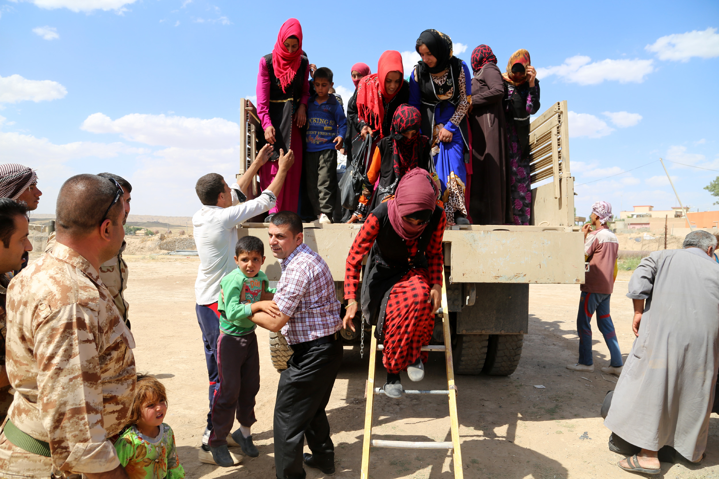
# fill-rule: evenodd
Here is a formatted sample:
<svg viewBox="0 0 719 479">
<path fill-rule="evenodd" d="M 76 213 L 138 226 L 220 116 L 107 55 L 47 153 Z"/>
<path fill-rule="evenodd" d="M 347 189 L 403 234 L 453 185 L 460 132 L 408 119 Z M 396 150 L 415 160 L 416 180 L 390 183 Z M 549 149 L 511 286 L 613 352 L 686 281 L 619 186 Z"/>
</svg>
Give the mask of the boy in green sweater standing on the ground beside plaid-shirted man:
<svg viewBox="0 0 719 479">
<path fill-rule="evenodd" d="M 237 269 L 220 282 L 217 310 L 220 336 L 217 340 L 219 388 L 212 406 L 212 433 L 209 447 L 217 465 L 234 465 L 227 448 L 227 434 L 237 417 L 239 429 L 232 433 L 242 452 L 257 457 L 249 428 L 255 423 L 255 396 L 260 391 L 260 354 L 257 352 L 255 323 L 248 318 L 257 311 L 276 316 L 274 288 L 260 266 L 265 263 L 265 245 L 256 236 L 244 236 L 234 248 Z M 265 299 L 265 300 L 263 300 Z"/>
</svg>

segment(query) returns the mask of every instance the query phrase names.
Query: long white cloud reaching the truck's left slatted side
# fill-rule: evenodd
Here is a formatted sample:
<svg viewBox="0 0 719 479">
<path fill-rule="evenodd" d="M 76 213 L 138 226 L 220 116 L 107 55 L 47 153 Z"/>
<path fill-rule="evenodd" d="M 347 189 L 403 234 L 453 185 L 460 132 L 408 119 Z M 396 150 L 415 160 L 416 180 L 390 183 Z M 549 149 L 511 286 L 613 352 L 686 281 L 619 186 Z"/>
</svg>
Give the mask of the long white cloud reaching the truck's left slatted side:
<svg viewBox="0 0 719 479">
<path fill-rule="evenodd" d="M 103 113 L 88 116 L 81 129 L 91 133 L 119 133 L 129 141 L 180 148 L 230 148 L 239 144 L 239 125 L 224 118 L 132 113 L 112 120 Z"/>
</svg>

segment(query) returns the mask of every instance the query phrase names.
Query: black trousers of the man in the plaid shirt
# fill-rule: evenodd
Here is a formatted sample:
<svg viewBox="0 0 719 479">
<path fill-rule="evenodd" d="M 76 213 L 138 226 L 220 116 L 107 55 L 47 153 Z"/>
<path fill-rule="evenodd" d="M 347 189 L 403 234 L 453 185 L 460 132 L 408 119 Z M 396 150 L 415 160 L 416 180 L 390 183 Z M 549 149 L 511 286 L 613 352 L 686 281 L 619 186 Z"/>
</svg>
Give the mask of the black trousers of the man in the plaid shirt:
<svg viewBox="0 0 719 479">
<path fill-rule="evenodd" d="M 275 401 L 275 470 L 281 479 L 304 479 L 307 445 L 320 465 L 334 463 L 334 444 L 324 408 L 342 364 L 342 339 L 298 350 L 280 375 Z"/>
</svg>

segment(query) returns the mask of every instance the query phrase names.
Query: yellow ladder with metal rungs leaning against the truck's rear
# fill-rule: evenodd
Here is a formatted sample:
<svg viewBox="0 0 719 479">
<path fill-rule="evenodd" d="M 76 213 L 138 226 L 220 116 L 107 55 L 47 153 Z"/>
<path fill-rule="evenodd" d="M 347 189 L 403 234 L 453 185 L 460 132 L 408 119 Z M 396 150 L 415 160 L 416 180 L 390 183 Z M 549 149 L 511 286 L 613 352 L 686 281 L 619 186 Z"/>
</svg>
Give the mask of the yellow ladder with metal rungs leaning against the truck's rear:
<svg viewBox="0 0 719 479">
<path fill-rule="evenodd" d="M 447 371 L 447 389 L 417 390 L 405 389 L 404 394 L 446 394 L 449 398 L 449 422 L 452 428 L 452 441 L 385 441 L 372 439 L 372 406 L 375 394 L 385 394 L 380 388 L 375 388 L 375 358 L 377 351 L 383 350 L 383 345 L 377 345 L 375 326 L 372 326 L 372 343 L 370 345 L 370 372 L 367 376 L 365 397 L 365 437 L 362 442 L 362 469 L 360 478 L 369 479 L 370 447 L 398 447 L 401 449 L 447 449 L 452 450 L 454 462 L 454 479 L 463 479 L 462 451 L 459 446 L 459 421 L 457 420 L 457 386 L 454 385 L 454 366 L 452 365 L 452 337 L 449 332 L 449 308 L 447 307 L 446 282 L 442 271 L 442 323 L 444 329 L 444 346 L 422 346 L 423 351 L 443 351 Z"/>
</svg>

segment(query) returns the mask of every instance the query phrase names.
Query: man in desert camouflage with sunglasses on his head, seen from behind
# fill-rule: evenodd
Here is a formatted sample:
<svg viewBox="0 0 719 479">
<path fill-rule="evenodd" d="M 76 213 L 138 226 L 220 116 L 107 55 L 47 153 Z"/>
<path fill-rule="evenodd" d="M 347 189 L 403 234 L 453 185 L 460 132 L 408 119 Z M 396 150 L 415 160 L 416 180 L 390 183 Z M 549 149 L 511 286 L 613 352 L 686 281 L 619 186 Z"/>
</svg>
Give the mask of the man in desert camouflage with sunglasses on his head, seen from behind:
<svg viewBox="0 0 719 479">
<path fill-rule="evenodd" d="M 132 405 L 134 339 L 99 274 L 122 246 L 124 203 L 113 178 L 65 181 L 55 247 L 7 289 L 16 393 L 0 434 L 0 478 L 127 478 L 109 438 Z"/>
</svg>

